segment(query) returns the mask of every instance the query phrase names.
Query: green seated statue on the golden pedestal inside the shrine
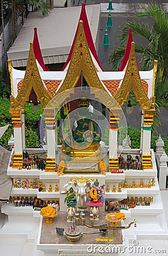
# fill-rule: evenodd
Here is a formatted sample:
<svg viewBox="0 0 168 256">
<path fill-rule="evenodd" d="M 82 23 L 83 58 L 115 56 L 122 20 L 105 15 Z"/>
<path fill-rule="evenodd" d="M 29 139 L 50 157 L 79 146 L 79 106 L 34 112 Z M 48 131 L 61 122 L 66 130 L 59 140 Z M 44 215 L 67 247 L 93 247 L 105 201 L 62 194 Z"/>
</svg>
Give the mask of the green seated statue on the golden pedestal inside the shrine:
<svg viewBox="0 0 168 256">
<path fill-rule="evenodd" d="M 72 113 L 70 118 L 70 131 L 68 137 L 65 139 L 65 151 L 67 158 L 65 162 L 68 162 L 70 158 L 70 146 L 73 142 L 79 143 L 79 146 L 83 146 L 86 142 L 100 142 L 101 137 L 98 134 L 98 126 L 95 122 L 96 119 L 104 119 L 106 115 L 106 108 L 103 108 L 103 115 L 96 115 L 89 110 L 89 100 L 82 98 L 78 100 L 77 112 Z M 64 109 L 61 109 L 61 118 L 65 119 L 67 115 L 64 114 Z M 74 122 L 76 122 L 75 129 Z"/>
</svg>

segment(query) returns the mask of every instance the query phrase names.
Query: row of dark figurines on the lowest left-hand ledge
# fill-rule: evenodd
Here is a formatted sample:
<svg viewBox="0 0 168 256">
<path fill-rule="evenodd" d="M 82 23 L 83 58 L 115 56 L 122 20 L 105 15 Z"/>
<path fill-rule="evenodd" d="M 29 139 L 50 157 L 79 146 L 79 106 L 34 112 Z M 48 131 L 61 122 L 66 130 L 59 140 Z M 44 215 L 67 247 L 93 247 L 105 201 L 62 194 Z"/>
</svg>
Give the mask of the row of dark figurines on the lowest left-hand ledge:
<svg viewBox="0 0 168 256">
<path fill-rule="evenodd" d="M 26 197 L 26 196 L 12 196 L 11 202 L 15 207 L 32 207 L 36 210 L 41 210 L 43 207 L 52 206 L 56 210 L 60 210 L 60 201 L 48 201 L 38 199 L 37 197 Z"/>
</svg>

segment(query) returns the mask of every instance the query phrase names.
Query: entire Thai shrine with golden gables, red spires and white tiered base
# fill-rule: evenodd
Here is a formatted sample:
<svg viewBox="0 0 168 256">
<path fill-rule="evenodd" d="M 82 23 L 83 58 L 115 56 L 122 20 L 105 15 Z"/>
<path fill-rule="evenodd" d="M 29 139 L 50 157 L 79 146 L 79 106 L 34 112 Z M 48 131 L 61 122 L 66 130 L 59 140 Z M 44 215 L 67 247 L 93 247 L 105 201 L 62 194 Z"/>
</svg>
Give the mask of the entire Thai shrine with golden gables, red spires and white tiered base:
<svg viewBox="0 0 168 256">
<path fill-rule="evenodd" d="M 130 30 L 122 71 L 103 71 L 82 4 L 61 71 L 45 68 L 36 28 L 26 71 L 13 68 L 8 60 L 15 145 L 7 168 L 13 180 L 11 200 L 3 203 L 2 212 L 9 223 L 24 224 L 25 230 L 16 229 L 15 234 L 29 233 L 30 223 L 38 228 L 37 249 L 46 256 L 64 255 L 70 249 L 74 253 L 70 255 L 81 255 L 80 250 L 91 254 L 91 244 L 122 249 L 132 240 L 167 236 L 150 148 L 157 61 L 150 71 L 139 71 L 134 45 Z M 124 117 L 121 106 L 131 90 L 142 113 L 137 149 L 118 142 Z M 26 102 L 43 105 L 41 148 L 26 148 Z"/>
</svg>

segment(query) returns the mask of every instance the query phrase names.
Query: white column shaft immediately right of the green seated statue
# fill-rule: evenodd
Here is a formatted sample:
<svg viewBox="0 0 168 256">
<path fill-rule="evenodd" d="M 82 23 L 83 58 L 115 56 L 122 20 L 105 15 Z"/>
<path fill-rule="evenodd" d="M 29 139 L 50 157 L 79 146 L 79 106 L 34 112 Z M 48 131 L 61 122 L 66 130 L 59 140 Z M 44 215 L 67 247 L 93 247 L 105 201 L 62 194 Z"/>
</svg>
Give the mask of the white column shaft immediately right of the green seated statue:
<svg viewBox="0 0 168 256">
<path fill-rule="evenodd" d="M 109 129 L 109 157 L 117 157 L 117 129 Z"/>
</svg>

